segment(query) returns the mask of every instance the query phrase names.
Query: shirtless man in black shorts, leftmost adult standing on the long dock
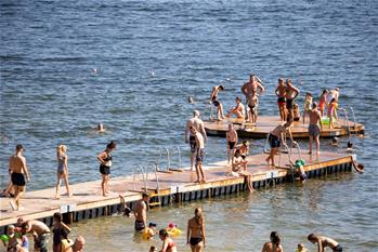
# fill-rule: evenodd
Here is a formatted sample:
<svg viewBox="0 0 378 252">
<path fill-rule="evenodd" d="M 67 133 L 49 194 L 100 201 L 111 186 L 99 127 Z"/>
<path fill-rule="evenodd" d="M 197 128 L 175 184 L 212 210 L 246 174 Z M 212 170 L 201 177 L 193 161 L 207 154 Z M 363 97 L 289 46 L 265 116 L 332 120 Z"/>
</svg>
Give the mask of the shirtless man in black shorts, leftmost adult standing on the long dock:
<svg viewBox="0 0 378 252">
<path fill-rule="evenodd" d="M 25 194 L 25 176 L 27 182 L 30 182 L 29 172 L 26 168 L 26 159 L 23 156 L 24 147 L 18 144 L 16 146 L 16 154 L 9 159 L 9 168 L 11 170 L 11 180 L 15 189 L 14 201 L 10 201 L 13 210 L 22 210 L 19 208 L 19 199 Z"/>
</svg>

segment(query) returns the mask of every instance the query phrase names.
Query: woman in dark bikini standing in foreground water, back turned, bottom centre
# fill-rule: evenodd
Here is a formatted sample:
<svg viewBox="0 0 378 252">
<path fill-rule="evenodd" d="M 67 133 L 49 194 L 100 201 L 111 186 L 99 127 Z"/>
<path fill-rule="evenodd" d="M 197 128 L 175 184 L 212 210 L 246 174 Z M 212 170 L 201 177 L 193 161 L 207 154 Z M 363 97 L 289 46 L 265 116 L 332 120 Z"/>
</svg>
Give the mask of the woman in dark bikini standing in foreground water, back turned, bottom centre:
<svg viewBox="0 0 378 252">
<path fill-rule="evenodd" d="M 194 217 L 187 222 L 186 244 L 192 252 L 201 252 L 206 246 L 205 220 L 199 208 L 194 210 Z"/>
</svg>

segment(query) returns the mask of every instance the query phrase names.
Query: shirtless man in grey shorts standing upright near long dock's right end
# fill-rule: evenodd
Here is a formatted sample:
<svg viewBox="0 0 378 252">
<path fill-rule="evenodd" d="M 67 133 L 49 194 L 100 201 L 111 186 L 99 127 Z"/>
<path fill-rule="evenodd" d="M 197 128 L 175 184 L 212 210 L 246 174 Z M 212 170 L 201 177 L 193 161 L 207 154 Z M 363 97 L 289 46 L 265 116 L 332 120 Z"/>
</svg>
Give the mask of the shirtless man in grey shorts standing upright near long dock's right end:
<svg viewBox="0 0 378 252">
<path fill-rule="evenodd" d="M 312 141 L 315 140 L 316 155 L 320 154 L 320 135 L 323 130 L 322 115 L 317 110 L 317 103 L 312 104 L 312 109 L 309 111 L 309 135 L 310 135 L 310 148 L 309 154 L 312 154 Z"/>
</svg>

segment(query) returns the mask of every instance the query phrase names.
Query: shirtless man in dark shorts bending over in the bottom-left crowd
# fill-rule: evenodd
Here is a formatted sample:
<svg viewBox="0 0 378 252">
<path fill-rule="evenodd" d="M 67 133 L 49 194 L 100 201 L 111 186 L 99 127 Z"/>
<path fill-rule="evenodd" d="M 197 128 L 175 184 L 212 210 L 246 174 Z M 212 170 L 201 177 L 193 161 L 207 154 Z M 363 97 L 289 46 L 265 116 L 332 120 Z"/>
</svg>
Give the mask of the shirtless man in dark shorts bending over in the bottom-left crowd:
<svg viewBox="0 0 378 252">
<path fill-rule="evenodd" d="M 22 222 L 23 220 L 17 220 Z M 35 239 L 35 251 L 47 252 L 50 237 L 50 228 L 40 221 L 30 220 L 26 222 L 26 230 L 32 234 Z"/>
</svg>

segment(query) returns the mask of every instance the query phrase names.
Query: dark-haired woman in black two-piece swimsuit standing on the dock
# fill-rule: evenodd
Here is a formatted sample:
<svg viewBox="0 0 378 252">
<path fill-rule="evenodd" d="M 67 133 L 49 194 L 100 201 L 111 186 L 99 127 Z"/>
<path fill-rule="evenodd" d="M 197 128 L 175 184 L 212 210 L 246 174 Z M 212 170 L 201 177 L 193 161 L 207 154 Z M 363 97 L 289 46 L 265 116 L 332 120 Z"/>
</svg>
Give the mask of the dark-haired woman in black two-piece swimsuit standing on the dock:
<svg viewBox="0 0 378 252">
<path fill-rule="evenodd" d="M 103 196 L 106 197 L 109 194 L 109 174 L 112 167 L 112 151 L 116 149 L 116 144 L 112 141 L 107 144 L 106 149 L 97 155 L 97 160 L 100 161 L 100 173 L 102 175 L 101 188 L 103 190 Z"/>
</svg>

